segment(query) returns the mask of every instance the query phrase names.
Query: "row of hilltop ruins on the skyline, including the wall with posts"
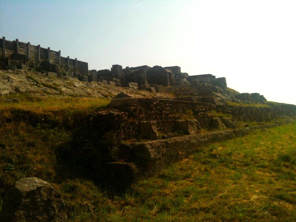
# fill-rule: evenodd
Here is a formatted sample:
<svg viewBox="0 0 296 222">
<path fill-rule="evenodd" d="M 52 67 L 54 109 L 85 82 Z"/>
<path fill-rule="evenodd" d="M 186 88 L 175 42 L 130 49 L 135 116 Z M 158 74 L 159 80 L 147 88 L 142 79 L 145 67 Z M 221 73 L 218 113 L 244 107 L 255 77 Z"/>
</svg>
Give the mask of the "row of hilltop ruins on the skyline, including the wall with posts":
<svg viewBox="0 0 296 222">
<path fill-rule="evenodd" d="M 122 68 L 112 65 L 111 70 L 88 70 L 86 62 L 61 57 L 61 51 L 52 51 L 49 47 L 33 46 L 29 42 L 7 41 L 0 39 L 0 68 L 22 69 L 46 73 L 49 77 L 74 77 L 85 82 L 105 82 L 110 86 L 128 87 L 150 92 L 163 93 L 168 86 L 186 86 L 197 89 L 193 96 L 202 97 L 202 102 L 223 103 L 223 99 L 264 103 L 263 95 L 258 93 L 231 93 L 227 90 L 226 78 L 216 78 L 214 75 L 191 75 L 182 73 L 181 67 L 169 66 Z M 172 89 L 174 90 L 174 89 Z M 169 89 L 167 90 L 169 91 Z M 219 95 L 218 95 L 219 94 Z M 221 94 L 223 99 L 221 99 Z"/>
</svg>

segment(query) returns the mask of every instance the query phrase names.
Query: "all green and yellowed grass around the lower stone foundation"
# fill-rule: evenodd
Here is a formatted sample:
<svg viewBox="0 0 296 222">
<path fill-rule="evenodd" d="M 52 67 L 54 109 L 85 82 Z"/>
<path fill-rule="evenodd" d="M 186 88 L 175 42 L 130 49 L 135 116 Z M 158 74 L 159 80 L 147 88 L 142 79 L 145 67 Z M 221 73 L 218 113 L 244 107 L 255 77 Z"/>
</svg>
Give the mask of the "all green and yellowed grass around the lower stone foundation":
<svg viewBox="0 0 296 222">
<path fill-rule="evenodd" d="M 295 221 L 295 123 L 203 147 L 116 193 L 55 157 L 58 147 L 67 149 L 74 120 L 106 103 L 80 98 L 67 105 L 54 98 L 2 103 L 0 203 L 17 180 L 36 176 L 61 192 L 70 221 Z M 29 124 L 28 113 L 46 117 L 46 123 Z"/>
</svg>

